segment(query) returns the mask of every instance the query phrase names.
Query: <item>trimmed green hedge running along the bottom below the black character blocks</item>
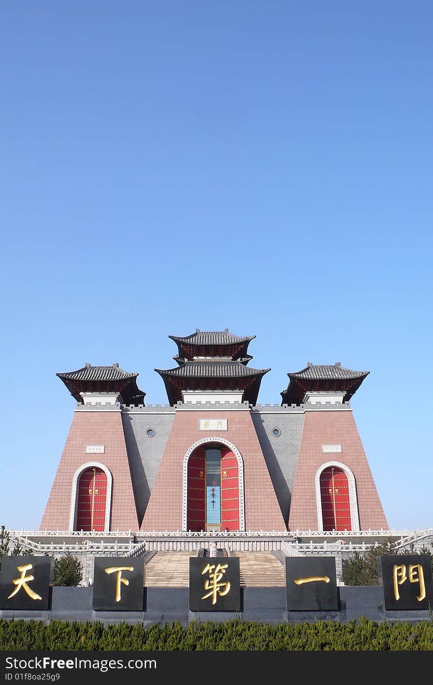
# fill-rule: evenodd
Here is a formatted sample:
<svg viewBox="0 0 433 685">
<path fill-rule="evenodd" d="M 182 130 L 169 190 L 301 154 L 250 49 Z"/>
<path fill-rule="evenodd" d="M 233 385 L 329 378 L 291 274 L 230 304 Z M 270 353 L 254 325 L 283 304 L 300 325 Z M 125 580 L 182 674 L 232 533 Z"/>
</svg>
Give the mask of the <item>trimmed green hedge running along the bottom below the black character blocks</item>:
<svg viewBox="0 0 433 685">
<path fill-rule="evenodd" d="M 0 650 L 93 651 L 419 651 L 433 650 L 433 621 L 377 623 L 253 623 L 233 621 L 178 622 L 150 627 L 99 621 L 24 621 L 0 619 Z"/>
</svg>

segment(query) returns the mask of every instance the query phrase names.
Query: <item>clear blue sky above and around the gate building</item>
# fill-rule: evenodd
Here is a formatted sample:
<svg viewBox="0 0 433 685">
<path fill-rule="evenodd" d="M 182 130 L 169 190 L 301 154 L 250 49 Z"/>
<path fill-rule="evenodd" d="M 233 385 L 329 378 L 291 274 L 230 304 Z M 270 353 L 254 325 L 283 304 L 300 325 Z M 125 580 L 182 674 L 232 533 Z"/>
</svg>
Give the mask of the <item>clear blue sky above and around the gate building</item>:
<svg viewBox="0 0 433 685">
<path fill-rule="evenodd" d="M 0 523 L 38 527 L 75 401 L 167 336 L 256 334 L 352 406 L 392 528 L 433 525 L 430 0 L 3 3 Z"/>
</svg>

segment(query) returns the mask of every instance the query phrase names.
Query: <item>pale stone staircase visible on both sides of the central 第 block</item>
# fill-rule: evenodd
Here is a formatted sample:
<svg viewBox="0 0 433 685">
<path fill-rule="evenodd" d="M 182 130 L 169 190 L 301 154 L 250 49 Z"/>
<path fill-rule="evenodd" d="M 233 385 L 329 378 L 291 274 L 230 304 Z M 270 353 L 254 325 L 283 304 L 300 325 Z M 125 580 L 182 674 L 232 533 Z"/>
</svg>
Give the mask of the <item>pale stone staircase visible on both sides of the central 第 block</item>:
<svg viewBox="0 0 433 685">
<path fill-rule="evenodd" d="M 195 552 L 157 552 L 145 566 L 145 585 L 153 588 L 187 588 L 189 560 L 195 556 Z M 284 566 L 271 552 L 232 551 L 232 557 L 239 559 L 241 587 L 286 585 Z"/>
</svg>

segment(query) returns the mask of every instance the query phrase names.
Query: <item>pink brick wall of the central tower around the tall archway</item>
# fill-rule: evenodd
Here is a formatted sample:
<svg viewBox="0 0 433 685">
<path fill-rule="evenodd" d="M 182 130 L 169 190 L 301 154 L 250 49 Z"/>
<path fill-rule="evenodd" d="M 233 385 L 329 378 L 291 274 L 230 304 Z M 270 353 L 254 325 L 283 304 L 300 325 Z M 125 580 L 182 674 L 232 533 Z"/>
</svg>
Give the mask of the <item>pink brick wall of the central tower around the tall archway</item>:
<svg viewBox="0 0 433 685">
<path fill-rule="evenodd" d="M 228 430 L 199 431 L 199 419 L 227 419 Z M 141 530 L 182 530 L 184 456 L 191 445 L 210 436 L 229 440 L 242 455 L 245 529 L 286 530 L 251 414 L 247 410 L 176 412 Z"/>
</svg>

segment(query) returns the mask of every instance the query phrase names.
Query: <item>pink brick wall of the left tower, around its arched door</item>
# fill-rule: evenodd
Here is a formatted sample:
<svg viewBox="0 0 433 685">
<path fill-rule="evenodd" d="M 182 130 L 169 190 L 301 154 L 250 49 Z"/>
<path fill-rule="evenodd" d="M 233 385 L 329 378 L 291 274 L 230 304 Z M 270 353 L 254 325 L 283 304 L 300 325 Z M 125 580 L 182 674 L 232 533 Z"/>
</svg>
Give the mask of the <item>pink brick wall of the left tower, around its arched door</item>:
<svg viewBox="0 0 433 685">
<path fill-rule="evenodd" d="M 105 445 L 104 454 L 86 454 L 86 445 Z M 75 412 L 40 530 L 68 530 L 73 475 L 87 462 L 104 464 L 112 475 L 110 530 L 138 530 L 121 412 Z"/>
</svg>

